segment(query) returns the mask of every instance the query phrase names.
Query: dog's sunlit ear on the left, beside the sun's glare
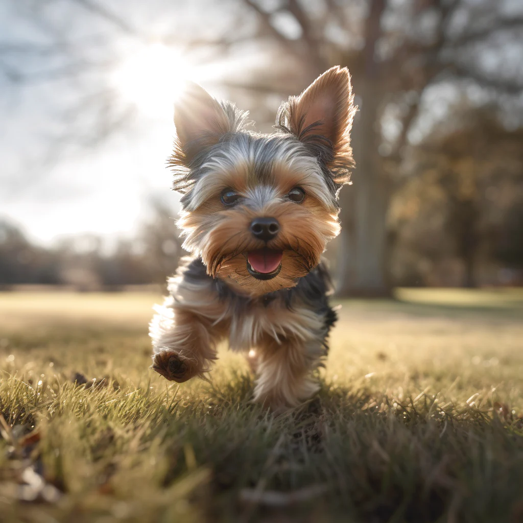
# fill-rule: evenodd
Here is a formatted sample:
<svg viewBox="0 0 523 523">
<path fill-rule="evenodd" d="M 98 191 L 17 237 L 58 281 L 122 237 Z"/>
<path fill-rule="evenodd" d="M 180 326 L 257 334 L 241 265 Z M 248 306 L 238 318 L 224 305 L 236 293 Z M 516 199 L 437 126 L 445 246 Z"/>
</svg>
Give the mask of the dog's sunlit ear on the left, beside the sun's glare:
<svg viewBox="0 0 523 523">
<path fill-rule="evenodd" d="M 186 84 L 174 104 L 174 124 L 174 155 L 187 166 L 202 149 L 218 143 L 230 132 L 229 120 L 220 103 L 194 82 Z"/>
</svg>

